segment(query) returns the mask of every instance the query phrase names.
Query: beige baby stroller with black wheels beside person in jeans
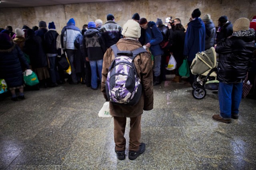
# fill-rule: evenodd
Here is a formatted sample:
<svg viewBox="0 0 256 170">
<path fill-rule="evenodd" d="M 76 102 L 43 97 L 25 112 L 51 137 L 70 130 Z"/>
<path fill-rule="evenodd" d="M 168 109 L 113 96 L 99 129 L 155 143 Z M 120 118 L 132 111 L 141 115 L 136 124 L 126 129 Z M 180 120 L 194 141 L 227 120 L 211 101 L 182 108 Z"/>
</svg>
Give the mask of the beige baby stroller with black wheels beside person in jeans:
<svg viewBox="0 0 256 170">
<path fill-rule="evenodd" d="M 214 47 L 196 54 L 190 66 L 192 74 L 199 75 L 192 84 L 194 98 L 203 99 L 206 96 L 206 89 L 218 90 L 219 81 L 216 80 L 217 64 Z"/>
</svg>

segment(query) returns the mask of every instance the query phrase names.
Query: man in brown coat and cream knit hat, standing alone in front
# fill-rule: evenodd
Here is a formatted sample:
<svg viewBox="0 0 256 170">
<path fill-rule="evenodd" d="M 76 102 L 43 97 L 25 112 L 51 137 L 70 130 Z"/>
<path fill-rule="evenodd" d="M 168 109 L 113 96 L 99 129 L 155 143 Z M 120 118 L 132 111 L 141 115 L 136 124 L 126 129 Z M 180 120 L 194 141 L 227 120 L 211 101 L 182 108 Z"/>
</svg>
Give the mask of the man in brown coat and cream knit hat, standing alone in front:
<svg viewBox="0 0 256 170">
<path fill-rule="evenodd" d="M 120 39 L 116 45 L 120 51 L 133 51 L 142 45 L 138 41 L 140 37 L 140 25 L 134 20 L 128 20 L 124 24 L 122 35 L 124 38 Z M 103 58 L 102 68 L 102 92 L 104 98 L 107 100 L 105 82 L 108 75 L 108 68 L 114 60 L 114 53 L 109 48 Z M 129 159 L 134 160 L 139 154 L 142 154 L 146 148 L 145 143 L 140 143 L 141 127 L 140 121 L 143 110 L 153 109 L 153 76 L 152 76 L 152 62 L 148 52 L 140 53 L 134 59 L 134 65 L 142 84 L 142 95 L 139 102 L 134 106 L 113 105 L 109 104 L 110 115 L 114 117 L 114 141 L 115 152 L 119 160 L 125 159 L 125 145 L 124 138 L 126 117 L 130 117 L 130 141 L 129 141 Z"/>
</svg>

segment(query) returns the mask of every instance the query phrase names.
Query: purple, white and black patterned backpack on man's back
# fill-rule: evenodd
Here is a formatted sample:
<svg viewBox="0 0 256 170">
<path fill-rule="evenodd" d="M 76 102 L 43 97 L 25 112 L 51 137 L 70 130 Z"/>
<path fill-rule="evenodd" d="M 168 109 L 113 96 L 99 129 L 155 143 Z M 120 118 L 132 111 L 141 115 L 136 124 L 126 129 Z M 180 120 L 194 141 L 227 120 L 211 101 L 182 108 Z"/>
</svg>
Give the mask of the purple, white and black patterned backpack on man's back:
<svg viewBox="0 0 256 170">
<path fill-rule="evenodd" d="M 140 47 L 134 51 L 119 51 L 111 46 L 115 59 L 108 68 L 106 94 L 112 104 L 133 106 L 138 103 L 142 87 L 133 60 L 140 53 L 147 52 Z"/>
</svg>

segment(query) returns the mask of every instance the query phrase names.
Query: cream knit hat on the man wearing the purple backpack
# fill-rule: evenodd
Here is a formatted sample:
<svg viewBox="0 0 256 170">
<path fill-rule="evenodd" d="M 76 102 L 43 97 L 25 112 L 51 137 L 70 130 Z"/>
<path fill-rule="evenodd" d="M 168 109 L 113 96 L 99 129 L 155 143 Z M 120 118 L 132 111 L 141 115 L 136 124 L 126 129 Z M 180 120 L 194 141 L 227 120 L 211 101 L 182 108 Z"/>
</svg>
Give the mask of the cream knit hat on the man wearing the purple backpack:
<svg viewBox="0 0 256 170">
<path fill-rule="evenodd" d="M 122 35 L 131 38 L 140 38 L 140 24 L 134 20 L 128 20 L 123 27 Z"/>
</svg>

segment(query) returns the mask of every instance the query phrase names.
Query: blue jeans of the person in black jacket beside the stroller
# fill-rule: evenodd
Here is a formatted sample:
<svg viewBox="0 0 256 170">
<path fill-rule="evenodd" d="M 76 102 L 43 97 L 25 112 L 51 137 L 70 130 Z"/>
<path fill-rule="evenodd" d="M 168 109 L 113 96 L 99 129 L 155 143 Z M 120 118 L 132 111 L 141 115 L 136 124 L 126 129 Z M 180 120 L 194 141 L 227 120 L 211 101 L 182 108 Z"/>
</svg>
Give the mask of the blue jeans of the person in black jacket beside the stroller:
<svg viewBox="0 0 256 170">
<path fill-rule="evenodd" d="M 218 96 L 220 103 L 220 115 L 223 118 L 231 118 L 238 114 L 239 104 L 242 99 L 243 83 L 219 83 Z"/>
</svg>

